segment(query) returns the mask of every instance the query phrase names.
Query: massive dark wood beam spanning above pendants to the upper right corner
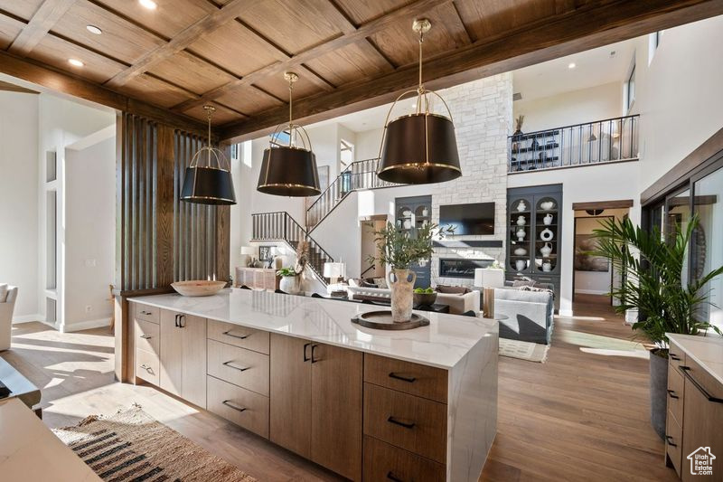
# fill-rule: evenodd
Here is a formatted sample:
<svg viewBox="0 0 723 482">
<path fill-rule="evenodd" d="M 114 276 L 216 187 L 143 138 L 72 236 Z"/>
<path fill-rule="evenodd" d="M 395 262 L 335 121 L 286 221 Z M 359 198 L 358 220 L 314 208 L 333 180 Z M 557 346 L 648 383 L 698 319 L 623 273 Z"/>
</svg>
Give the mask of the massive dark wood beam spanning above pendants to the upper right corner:
<svg viewBox="0 0 723 482">
<path fill-rule="evenodd" d="M 427 88 L 444 89 L 723 14 L 723 2 L 719 0 L 617 0 L 605 6 L 588 5 L 493 40 L 437 55 L 425 62 Z M 417 65 L 408 65 L 374 80 L 298 99 L 294 103 L 295 118 L 308 124 L 380 106 L 415 86 L 417 81 Z M 221 127 L 221 139 L 239 141 L 265 135 L 284 122 L 286 116 L 286 109 L 270 109 L 248 120 L 230 122 Z"/>
</svg>

